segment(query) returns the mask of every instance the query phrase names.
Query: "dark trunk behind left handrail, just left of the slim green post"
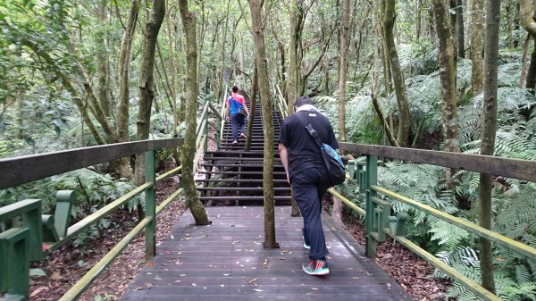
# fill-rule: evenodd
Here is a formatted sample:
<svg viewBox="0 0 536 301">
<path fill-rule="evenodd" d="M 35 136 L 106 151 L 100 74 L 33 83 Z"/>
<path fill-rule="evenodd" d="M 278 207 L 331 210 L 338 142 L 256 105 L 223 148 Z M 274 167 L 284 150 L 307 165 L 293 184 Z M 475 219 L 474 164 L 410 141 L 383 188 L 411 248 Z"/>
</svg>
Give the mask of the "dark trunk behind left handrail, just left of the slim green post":
<svg viewBox="0 0 536 301">
<path fill-rule="evenodd" d="M 141 58 L 139 107 L 136 138 L 138 141 L 149 138 L 151 125 L 151 108 L 155 97 L 155 48 L 158 32 L 165 14 L 165 0 L 154 0 L 153 10 L 147 18 L 145 37 L 143 41 L 143 54 Z M 141 185 L 144 180 L 144 155 L 136 155 L 135 183 Z"/>
</svg>

